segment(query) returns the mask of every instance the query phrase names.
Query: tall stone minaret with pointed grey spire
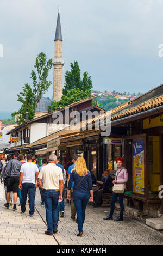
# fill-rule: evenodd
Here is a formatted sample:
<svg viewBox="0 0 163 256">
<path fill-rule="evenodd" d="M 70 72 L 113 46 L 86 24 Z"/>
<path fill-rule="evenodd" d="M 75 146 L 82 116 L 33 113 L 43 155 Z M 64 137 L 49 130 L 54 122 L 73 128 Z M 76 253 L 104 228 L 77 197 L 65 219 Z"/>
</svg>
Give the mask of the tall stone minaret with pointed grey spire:
<svg viewBox="0 0 163 256">
<path fill-rule="evenodd" d="M 57 18 L 57 27 L 55 31 L 55 56 L 53 59 L 54 67 L 54 79 L 53 79 L 53 101 L 60 101 L 61 96 L 63 95 L 63 66 L 64 60 L 62 59 L 62 33 L 60 25 L 60 15 L 58 7 L 58 18 Z"/>
</svg>

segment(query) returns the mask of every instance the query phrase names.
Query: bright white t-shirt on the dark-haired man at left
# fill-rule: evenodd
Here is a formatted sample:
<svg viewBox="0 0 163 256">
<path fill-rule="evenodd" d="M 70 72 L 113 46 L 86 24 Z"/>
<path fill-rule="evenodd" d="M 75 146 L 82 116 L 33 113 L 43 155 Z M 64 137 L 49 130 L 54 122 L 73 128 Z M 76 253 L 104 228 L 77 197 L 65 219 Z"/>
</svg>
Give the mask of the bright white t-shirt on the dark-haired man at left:
<svg viewBox="0 0 163 256">
<path fill-rule="evenodd" d="M 39 172 L 39 169 L 36 164 L 28 163 L 28 162 L 24 163 L 22 164 L 20 172 L 23 173 L 22 184 L 23 183 L 36 184 L 35 174 L 36 172 Z"/>
</svg>

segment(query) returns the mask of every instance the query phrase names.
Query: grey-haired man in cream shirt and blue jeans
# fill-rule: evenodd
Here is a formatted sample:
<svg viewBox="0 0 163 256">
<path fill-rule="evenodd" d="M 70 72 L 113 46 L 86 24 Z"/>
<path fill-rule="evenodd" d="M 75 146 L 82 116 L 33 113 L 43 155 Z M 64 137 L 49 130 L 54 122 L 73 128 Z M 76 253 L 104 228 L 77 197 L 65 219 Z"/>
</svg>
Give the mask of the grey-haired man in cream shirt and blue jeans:
<svg viewBox="0 0 163 256">
<path fill-rule="evenodd" d="M 50 155 L 49 163 L 43 166 L 38 177 L 39 187 L 43 189 L 43 199 L 46 208 L 46 222 L 48 229 L 46 235 L 53 235 L 58 230 L 58 202 L 62 202 L 63 173 L 62 169 L 56 166 L 57 156 Z M 41 180 L 43 179 L 43 185 Z"/>
</svg>

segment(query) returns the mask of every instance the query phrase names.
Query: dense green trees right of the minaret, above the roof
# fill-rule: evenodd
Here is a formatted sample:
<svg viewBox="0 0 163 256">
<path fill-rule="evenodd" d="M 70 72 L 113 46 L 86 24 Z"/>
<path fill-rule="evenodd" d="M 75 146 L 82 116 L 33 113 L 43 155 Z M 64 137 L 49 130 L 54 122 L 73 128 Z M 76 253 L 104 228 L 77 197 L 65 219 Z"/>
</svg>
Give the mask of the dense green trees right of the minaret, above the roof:
<svg viewBox="0 0 163 256">
<path fill-rule="evenodd" d="M 65 107 L 79 100 L 91 96 L 92 81 L 89 74 L 85 71 L 81 78 L 78 62 L 71 63 L 71 71 L 65 73 L 65 85 L 63 96 L 60 101 L 51 101 L 49 108 L 51 111 Z"/>
</svg>

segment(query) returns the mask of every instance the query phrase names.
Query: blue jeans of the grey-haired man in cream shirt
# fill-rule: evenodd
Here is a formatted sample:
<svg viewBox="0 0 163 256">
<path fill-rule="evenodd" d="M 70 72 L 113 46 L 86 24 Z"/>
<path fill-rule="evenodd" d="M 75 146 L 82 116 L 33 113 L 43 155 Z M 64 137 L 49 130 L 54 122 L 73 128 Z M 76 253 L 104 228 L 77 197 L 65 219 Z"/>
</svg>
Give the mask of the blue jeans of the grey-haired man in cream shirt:
<svg viewBox="0 0 163 256">
<path fill-rule="evenodd" d="M 46 222 L 48 232 L 53 233 L 54 228 L 58 228 L 58 199 L 59 191 L 56 190 L 43 190 L 43 198 L 46 209 Z"/>
</svg>

